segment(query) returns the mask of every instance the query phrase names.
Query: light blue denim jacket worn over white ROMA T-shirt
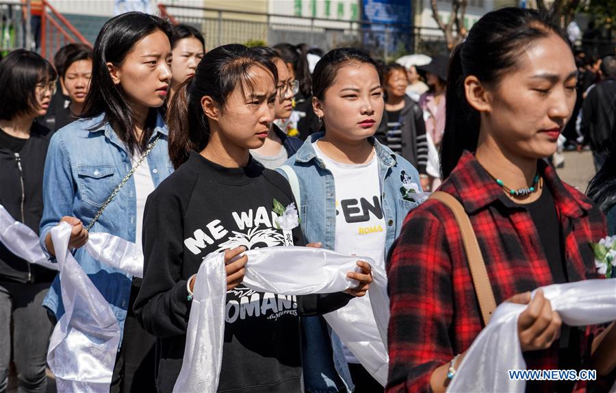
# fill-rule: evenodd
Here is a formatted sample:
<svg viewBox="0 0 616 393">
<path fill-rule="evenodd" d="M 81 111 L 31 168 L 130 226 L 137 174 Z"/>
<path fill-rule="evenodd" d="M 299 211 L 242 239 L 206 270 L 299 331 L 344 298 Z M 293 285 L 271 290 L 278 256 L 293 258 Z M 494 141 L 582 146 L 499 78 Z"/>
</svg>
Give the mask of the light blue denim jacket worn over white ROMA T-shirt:
<svg viewBox="0 0 616 393">
<path fill-rule="evenodd" d="M 324 249 L 333 250 L 336 235 L 334 179 L 324 162 L 317 157 L 312 146 L 313 142 L 323 136 L 322 132 L 309 136 L 296 155 L 287 160 L 285 165 L 291 166 L 298 177 L 301 199 L 298 210 L 302 231 L 307 242 L 322 242 Z M 381 175 L 381 203 L 387 227 L 383 253 L 387 260 L 387 251 L 400 235 L 402 221 L 407 213 L 418 205 L 416 201 L 403 198 L 402 179 L 405 179 L 407 183 L 408 181 L 415 183 L 419 189 L 421 186 L 418 171 L 407 160 L 393 153 L 375 138 L 370 138 L 370 141 L 376 150 L 378 170 Z M 286 177 L 283 170 L 278 169 L 278 171 Z M 325 325 L 324 320 L 319 316 L 302 318 L 302 325 L 306 338 L 303 348 L 303 366 L 307 392 L 329 393 L 337 392 L 342 388 L 352 392 L 354 386 L 342 350 L 342 342 L 337 335 Z M 310 344 L 306 345 L 306 343 Z M 344 385 L 340 385 L 341 379 Z"/>
</svg>

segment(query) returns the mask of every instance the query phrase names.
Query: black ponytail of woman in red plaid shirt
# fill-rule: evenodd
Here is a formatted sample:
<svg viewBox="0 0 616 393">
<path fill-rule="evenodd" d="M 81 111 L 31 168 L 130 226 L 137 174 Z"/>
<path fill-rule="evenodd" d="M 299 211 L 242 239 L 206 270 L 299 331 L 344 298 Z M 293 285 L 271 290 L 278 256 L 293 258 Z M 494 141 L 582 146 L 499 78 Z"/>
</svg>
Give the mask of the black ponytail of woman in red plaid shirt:
<svg viewBox="0 0 616 393">
<path fill-rule="evenodd" d="M 449 177 L 465 150 L 475 151 L 479 139 L 479 112 L 466 101 L 461 51 L 451 54 L 445 96 L 445 132 L 441 142 L 441 176 Z"/>
</svg>

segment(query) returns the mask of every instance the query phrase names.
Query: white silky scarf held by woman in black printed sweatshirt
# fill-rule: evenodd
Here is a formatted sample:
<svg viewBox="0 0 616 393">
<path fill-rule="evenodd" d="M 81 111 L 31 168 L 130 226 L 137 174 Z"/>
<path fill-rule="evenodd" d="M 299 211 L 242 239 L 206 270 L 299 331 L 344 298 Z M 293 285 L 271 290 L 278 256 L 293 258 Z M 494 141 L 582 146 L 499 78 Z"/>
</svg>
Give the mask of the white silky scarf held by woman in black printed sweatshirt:
<svg viewBox="0 0 616 393">
<path fill-rule="evenodd" d="M 346 273 L 359 271 L 357 260 L 374 264 L 366 257 L 348 256 L 308 247 L 267 247 L 246 251 L 248 262 L 243 284 L 259 292 L 303 295 L 341 292 L 357 286 Z M 328 322 L 361 364 L 383 385 L 387 382 L 387 349 L 383 333 L 389 319 L 385 272 L 372 268 L 374 291 L 370 302 L 351 299 L 345 312 L 326 314 Z M 378 288 L 378 289 L 377 289 Z M 210 253 L 203 259 L 194 286 L 182 369 L 174 392 L 214 393 L 222 362 L 224 305 L 227 276 L 224 255 Z M 368 304 L 368 307 L 366 307 Z M 340 311 L 340 310 L 338 310 Z M 374 314 L 374 316 L 372 315 Z M 362 324 L 354 323 L 361 320 Z M 376 321 L 376 322 L 375 322 Z M 381 322 L 377 327 L 376 323 Z"/>
</svg>

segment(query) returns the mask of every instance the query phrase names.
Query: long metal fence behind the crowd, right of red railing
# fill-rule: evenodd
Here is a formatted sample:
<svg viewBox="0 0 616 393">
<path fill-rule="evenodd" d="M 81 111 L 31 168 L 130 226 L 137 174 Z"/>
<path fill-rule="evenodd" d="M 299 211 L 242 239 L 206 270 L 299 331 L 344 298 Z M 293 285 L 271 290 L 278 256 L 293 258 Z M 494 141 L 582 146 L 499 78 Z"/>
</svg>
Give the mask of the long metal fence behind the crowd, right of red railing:
<svg viewBox="0 0 616 393">
<path fill-rule="evenodd" d="M 435 28 L 179 5 L 161 5 L 160 8 L 162 14 L 170 16 L 175 22 L 193 25 L 203 31 L 205 45 L 209 49 L 234 42 L 262 41 L 267 45 L 303 42 L 324 51 L 343 46 L 361 47 L 384 60 L 409 53 L 447 53 L 445 38 Z"/>
</svg>

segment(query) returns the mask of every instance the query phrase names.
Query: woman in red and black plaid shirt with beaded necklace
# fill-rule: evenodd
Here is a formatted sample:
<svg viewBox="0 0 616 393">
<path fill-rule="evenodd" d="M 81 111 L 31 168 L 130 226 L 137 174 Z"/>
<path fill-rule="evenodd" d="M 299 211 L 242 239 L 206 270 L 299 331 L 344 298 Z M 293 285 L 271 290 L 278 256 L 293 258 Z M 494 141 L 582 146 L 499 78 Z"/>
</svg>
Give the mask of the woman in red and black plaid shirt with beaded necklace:
<svg viewBox="0 0 616 393">
<path fill-rule="evenodd" d="M 594 340 L 594 329 L 567 327 L 541 291 L 532 301 L 529 293 L 599 277 L 589 243 L 605 236 L 605 220 L 544 160 L 571 117 L 576 77 L 566 36 L 537 12 L 502 8 L 483 16 L 450 60 L 440 190 L 470 216 L 496 303 L 528 303 L 518 320 L 528 369 L 596 369 L 611 385 L 616 329 Z M 387 392 L 444 392 L 450 367 L 483 329 L 449 208 L 429 200 L 412 210 L 387 268 Z M 528 382 L 526 390 L 589 385 Z"/>
</svg>

